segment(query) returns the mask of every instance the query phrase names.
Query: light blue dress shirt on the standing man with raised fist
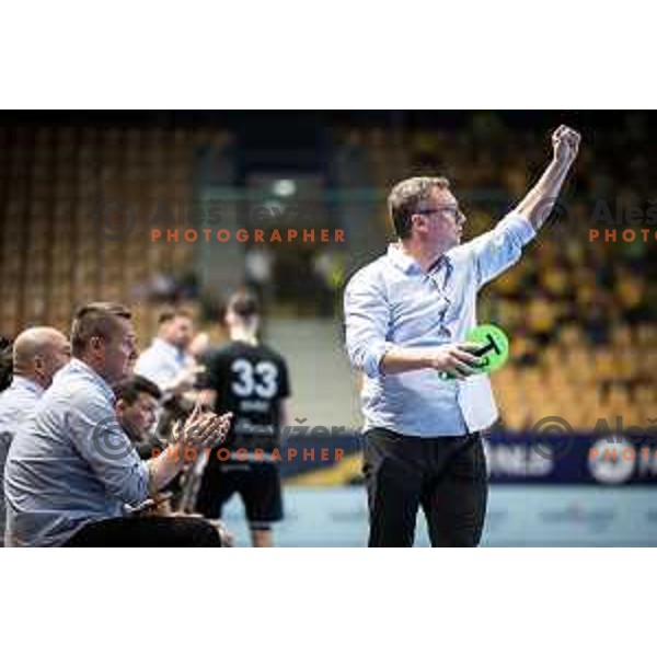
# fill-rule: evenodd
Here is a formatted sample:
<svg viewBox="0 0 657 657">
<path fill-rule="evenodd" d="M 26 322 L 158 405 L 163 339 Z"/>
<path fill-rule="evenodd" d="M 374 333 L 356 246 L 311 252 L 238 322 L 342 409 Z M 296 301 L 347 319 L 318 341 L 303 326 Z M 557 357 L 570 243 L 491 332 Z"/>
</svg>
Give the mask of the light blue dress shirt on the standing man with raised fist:
<svg viewBox="0 0 657 657">
<path fill-rule="evenodd" d="M 364 430 L 406 436 L 460 436 L 489 427 L 497 407 L 487 374 L 443 380 L 436 370 L 383 374 L 391 346 L 438 347 L 464 342 L 477 324 L 476 295 L 515 264 L 535 237 L 517 214 L 474 240 L 450 249 L 425 273 L 399 244 L 358 270 L 345 290 L 346 347 L 364 372 Z"/>
</svg>

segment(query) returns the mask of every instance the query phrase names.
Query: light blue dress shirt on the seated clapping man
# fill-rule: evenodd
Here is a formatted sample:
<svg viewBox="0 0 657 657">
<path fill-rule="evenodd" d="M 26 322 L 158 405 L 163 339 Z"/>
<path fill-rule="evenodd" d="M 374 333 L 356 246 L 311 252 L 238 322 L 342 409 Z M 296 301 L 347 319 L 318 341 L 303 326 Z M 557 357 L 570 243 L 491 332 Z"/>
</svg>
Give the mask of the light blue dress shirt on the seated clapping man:
<svg viewBox="0 0 657 657">
<path fill-rule="evenodd" d="M 148 496 L 148 466 L 116 422 L 110 385 L 77 358 L 20 426 L 7 459 L 5 541 L 61 545 Z"/>
</svg>

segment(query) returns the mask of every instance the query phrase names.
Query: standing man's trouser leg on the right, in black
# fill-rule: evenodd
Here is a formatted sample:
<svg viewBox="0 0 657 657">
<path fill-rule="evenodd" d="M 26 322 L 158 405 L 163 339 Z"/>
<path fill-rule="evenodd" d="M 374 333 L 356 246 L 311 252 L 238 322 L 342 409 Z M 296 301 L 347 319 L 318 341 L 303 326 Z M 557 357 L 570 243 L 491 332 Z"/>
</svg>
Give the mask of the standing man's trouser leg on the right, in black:
<svg viewBox="0 0 657 657">
<path fill-rule="evenodd" d="M 488 479 L 479 435 L 438 439 L 440 472 L 425 487 L 422 507 L 435 548 L 476 548 L 486 515 Z M 438 459 L 437 459 L 438 461 Z"/>
</svg>

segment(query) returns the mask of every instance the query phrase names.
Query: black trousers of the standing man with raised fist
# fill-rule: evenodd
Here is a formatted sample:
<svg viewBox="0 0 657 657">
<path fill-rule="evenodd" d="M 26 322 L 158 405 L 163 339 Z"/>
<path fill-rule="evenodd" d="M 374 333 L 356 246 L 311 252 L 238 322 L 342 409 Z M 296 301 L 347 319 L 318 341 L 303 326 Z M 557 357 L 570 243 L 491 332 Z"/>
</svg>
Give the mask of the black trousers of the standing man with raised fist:
<svg viewBox="0 0 657 657">
<path fill-rule="evenodd" d="M 434 548 L 475 548 L 488 481 L 481 435 L 417 438 L 388 429 L 365 436 L 370 548 L 410 548 L 422 507 Z"/>
</svg>

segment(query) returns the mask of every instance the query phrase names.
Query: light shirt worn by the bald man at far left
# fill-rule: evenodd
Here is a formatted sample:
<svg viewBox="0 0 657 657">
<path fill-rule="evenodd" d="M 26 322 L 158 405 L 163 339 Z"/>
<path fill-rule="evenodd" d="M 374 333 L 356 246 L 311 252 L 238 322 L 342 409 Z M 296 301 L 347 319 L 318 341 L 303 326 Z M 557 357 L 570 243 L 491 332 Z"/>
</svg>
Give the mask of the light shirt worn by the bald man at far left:
<svg viewBox="0 0 657 657">
<path fill-rule="evenodd" d="M 4 544 L 4 463 L 19 425 L 32 413 L 44 389 L 25 377 L 14 374 L 11 385 L 0 394 L 0 545 Z"/>
</svg>

